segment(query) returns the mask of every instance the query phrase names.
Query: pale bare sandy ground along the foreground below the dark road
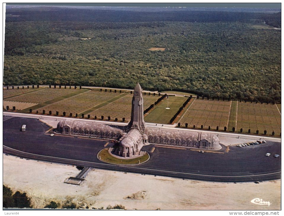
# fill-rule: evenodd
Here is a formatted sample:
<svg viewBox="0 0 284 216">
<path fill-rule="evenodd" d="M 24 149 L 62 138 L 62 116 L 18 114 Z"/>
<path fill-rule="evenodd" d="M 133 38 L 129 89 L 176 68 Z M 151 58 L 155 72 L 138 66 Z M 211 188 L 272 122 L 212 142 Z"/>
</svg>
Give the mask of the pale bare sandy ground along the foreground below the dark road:
<svg viewBox="0 0 284 216">
<path fill-rule="evenodd" d="M 34 208 L 50 201 L 73 199 L 78 206 L 126 209 L 278 210 L 281 181 L 218 183 L 93 169 L 80 185 L 63 183 L 79 170 L 75 166 L 20 159 L 3 154 L 3 184 L 27 192 Z M 254 198 L 268 205 L 251 203 Z"/>
</svg>

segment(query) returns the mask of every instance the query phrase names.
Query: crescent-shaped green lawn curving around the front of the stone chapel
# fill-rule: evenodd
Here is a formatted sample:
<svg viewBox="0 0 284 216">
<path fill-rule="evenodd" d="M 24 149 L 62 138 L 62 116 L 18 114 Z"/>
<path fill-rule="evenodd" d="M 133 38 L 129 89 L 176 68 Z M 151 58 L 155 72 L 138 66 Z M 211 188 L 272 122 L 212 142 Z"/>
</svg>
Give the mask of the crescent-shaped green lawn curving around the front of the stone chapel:
<svg viewBox="0 0 284 216">
<path fill-rule="evenodd" d="M 107 163 L 133 165 L 133 164 L 139 164 L 138 160 L 140 160 L 140 163 L 145 162 L 146 160 L 149 159 L 150 156 L 149 154 L 146 153 L 145 155 L 134 159 L 118 159 L 110 155 L 110 153 L 108 153 L 108 148 L 107 148 L 100 151 L 98 157 L 101 157 L 101 160 Z"/>
</svg>

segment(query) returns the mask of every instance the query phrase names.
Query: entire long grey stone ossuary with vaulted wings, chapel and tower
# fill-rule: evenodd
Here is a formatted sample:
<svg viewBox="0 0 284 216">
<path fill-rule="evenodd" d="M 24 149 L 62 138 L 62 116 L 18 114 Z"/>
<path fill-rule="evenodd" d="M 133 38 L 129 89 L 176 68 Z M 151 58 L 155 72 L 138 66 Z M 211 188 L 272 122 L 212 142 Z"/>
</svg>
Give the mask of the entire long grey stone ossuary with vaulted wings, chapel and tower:
<svg viewBox="0 0 284 216">
<path fill-rule="evenodd" d="M 212 133 L 147 126 L 144 122 L 143 110 L 142 88 L 137 83 L 134 88 L 131 120 L 128 125 L 66 119 L 58 123 L 57 132 L 116 140 L 119 144 L 114 148 L 113 154 L 126 158 L 139 155 L 144 145 L 152 143 L 213 150 L 222 148 L 219 138 Z"/>
</svg>

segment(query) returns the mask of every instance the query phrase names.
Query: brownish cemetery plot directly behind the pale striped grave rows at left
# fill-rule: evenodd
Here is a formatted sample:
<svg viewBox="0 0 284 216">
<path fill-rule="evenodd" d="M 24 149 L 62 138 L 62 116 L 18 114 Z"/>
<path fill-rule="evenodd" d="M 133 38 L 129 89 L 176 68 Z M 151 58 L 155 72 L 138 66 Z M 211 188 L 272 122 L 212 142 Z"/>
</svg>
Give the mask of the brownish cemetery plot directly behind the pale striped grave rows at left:
<svg viewBox="0 0 284 216">
<path fill-rule="evenodd" d="M 76 89 L 64 89 L 64 88 L 46 88 L 44 90 L 39 90 L 35 92 L 31 92 L 25 95 L 16 96 L 10 98 L 11 101 L 18 101 L 18 102 L 27 102 L 27 103 L 37 103 L 41 104 L 46 101 L 51 101 L 55 98 L 65 96 L 76 92 Z"/>
</svg>

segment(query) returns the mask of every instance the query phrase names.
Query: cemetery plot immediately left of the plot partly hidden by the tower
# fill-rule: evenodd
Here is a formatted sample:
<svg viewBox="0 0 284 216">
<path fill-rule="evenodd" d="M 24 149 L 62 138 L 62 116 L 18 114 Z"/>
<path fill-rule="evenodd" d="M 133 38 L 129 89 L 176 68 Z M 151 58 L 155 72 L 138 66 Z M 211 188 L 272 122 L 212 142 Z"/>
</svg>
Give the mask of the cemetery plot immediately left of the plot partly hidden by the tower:
<svg viewBox="0 0 284 216">
<path fill-rule="evenodd" d="M 114 92 L 101 92 L 97 90 L 87 91 L 83 94 L 78 94 L 76 96 L 70 97 L 68 99 L 58 101 L 54 104 L 50 104 L 45 107 L 37 109 L 38 113 L 42 113 L 45 110 L 46 114 L 49 110 L 52 111 L 52 114 L 55 114 L 56 111 L 59 112 L 59 115 L 63 115 L 63 112 L 66 112 L 66 115 L 75 115 L 76 113 L 84 112 L 87 109 L 97 106 L 105 101 L 108 101 L 120 93 Z"/>
</svg>

